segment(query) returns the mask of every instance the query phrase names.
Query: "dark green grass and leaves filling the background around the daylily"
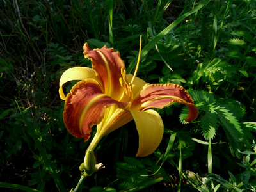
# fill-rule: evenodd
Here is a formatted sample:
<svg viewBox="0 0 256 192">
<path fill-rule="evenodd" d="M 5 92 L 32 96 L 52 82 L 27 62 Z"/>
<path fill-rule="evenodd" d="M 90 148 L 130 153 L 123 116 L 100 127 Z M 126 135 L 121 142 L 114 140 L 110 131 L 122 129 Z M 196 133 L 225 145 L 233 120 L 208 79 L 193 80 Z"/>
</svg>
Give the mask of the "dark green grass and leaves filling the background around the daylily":
<svg viewBox="0 0 256 192">
<path fill-rule="evenodd" d="M 140 35 L 138 76 L 184 86 L 199 116 L 184 124 L 181 105 L 157 110 L 164 138 L 143 158 L 135 158 L 134 122 L 112 132 L 96 151 L 106 168 L 87 177 L 83 191 L 255 191 L 254 0 L 6 0 L 0 7 L 1 191 L 75 188 L 90 141 L 65 129 L 60 76 L 90 67 L 84 42 L 114 47 L 132 72 Z"/>
</svg>

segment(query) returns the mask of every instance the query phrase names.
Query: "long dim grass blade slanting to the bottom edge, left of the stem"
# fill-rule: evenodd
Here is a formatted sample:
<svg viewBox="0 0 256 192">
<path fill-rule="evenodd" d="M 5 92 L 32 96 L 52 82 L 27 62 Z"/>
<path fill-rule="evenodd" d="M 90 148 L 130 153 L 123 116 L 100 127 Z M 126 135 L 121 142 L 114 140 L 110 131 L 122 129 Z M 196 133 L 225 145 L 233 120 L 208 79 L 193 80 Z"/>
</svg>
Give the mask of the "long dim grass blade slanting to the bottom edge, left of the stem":
<svg viewBox="0 0 256 192">
<path fill-rule="evenodd" d="M 35 142 L 36 148 L 38 148 L 38 150 L 40 152 L 40 155 L 44 159 L 44 163 L 47 166 L 49 172 L 51 173 L 51 175 L 52 175 L 52 177 L 54 179 L 54 182 L 56 183 L 57 188 L 59 189 L 59 191 L 67 191 L 65 189 L 63 183 L 61 182 L 60 177 L 58 177 L 56 171 L 52 168 L 51 161 L 49 161 L 44 148 L 42 147 L 41 143 L 39 142 L 39 140 L 38 140 L 38 138 L 36 136 L 36 133 L 35 133 L 35 129 L 33 129 L 33 127 L 31 127 L 31 125 L 29 124 L 29 122 L 28 122 L 26 116 L 24 115 L 22 109 L 20 109 L 20 106 L 19 106 L 17 100 L 15 100 L 15 102 L 16 102 L 18 108 L 19 108 L 19 111 L 20 111 L 20 113 L 22 115 L 22 118 L 24 119 L 25 124 L 28 126 L 29 135 L 32 137 L 33 141 Z"/>
</svg>

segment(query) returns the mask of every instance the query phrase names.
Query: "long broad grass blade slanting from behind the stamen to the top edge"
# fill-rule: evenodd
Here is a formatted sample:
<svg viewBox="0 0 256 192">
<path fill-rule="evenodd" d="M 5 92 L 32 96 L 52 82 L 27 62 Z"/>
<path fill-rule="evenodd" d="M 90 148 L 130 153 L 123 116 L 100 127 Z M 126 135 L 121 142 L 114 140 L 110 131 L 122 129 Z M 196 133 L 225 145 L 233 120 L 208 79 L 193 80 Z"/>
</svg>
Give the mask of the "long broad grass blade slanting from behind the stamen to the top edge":
<svg viewBox="0 0 256 192">
<path fill-rule="evenodd" d="M 154 45 L 157 44 L 157 42 L 159 42 L 159 40 L 161 40 L 161 38 L 163 38 L 164 35 L 167 35 L 173 28 L 175 28 L 175 26 L 177 26 L 180 22 L 182 22 L 182 20 L 184 20 L 186 17 L 188 17 L 189 15 L 197 12 L 198 10 L 200 10 L 202 7 L 205 6 L 205 4 L 207 4 L 209 1 L 211 0 L 205 0 L 202 3 L 198 4 L 198 6 L 196 6 L 196 8 L 194 8 L 193 10 L 189 11 L 188 13 L 185 13 L 184 15 L 180 16 L 177 20 L 175 20 L 172 24 L 170 24 L 167 28 L 163 29 L 163 31 L 161 31 L 161 33 L 159 33 L 157 36 L 155 36 L 155 38 L 153 38 L 142 50 L 141 50 L 141 60 L 143 60 L 143 58 L 145 58 L 145 56 L 148 54 L 148 52 L 154 47 Z M 129 67 L 127 68 L 127 74 L 131 73 L 132 68 L 135 67 L 136 62 L 138 60 L 138 56 L 136 56 L 136 58 L 134 58 L 131 62 L 131 64 L 129 65 Z"/>
</svg>

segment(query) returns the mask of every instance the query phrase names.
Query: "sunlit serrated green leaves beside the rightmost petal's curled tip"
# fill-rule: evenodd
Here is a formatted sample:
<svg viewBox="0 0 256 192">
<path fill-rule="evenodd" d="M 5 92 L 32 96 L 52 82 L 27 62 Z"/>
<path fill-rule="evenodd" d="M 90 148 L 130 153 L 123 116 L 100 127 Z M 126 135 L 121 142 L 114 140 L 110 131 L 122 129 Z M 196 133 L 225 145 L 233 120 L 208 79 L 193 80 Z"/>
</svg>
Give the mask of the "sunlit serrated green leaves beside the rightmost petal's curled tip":
<svg viewBox="0 0 256 192">
<path fill-rule="evenodd" d="M 237 149 L 250 147 L 248 142 L 252 138 L 252 133 L 239 123 L 245 110 L 242 104 L 231 99 L 215 99 L 214 94 L 205 91 L 189 90 L 189 94 L 202 115 L 200 125 L 206 140 L 212 140 L 218 130 L 224 130 L 232 154 L 238 156 Z M 180 121 L 184 122 L 186 115 L 188 110 L 182 110 Z"/>
</svg>

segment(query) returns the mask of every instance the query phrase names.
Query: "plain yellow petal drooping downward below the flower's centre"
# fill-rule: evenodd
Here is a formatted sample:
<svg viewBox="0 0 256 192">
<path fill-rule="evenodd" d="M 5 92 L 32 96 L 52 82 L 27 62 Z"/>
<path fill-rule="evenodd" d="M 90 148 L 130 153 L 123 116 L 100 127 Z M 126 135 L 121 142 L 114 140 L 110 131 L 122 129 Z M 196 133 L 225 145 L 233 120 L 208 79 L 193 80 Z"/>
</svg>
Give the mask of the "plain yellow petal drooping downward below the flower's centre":
<svg viewBox="0 0 256 192">
<path fill-rule="evenodd" d="M 136 154 L 145 157 L 154 152 L 162 141 L 164 124 L 159 113 L 152 109 L 131 111 L 139 134 L 139 150 Z"/>
</svg>

